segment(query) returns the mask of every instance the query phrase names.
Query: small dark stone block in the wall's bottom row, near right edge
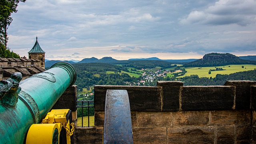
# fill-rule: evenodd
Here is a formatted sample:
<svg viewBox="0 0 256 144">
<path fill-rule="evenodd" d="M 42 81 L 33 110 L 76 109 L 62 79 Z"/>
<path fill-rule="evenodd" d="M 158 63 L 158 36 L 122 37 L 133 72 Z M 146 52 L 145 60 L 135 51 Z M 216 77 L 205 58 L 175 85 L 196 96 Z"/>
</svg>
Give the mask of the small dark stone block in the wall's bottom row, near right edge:
<svg viewBox="0 0 256 144">
<path fill-rule="evenodd" d="M 251 140 L 251 127 L 237 126 L 236 127 L 236 142 L 238 144 L 249 144 Z"/>
</svg>

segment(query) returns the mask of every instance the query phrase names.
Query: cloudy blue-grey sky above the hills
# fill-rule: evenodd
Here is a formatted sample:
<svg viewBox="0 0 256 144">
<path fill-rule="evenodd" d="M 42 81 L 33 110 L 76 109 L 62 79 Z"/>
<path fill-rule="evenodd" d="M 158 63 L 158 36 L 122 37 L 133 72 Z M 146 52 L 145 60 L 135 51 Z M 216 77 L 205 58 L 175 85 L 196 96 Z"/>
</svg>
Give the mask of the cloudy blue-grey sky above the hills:
<svg viewBox="0 0 256 144">
<path fill-rule="evenodd" d="M 8 47 L 20 56 L 36 36 L 48 60 L 256 55 L 256 0 L 26 0 L 17 10 Z"/>
</svg>

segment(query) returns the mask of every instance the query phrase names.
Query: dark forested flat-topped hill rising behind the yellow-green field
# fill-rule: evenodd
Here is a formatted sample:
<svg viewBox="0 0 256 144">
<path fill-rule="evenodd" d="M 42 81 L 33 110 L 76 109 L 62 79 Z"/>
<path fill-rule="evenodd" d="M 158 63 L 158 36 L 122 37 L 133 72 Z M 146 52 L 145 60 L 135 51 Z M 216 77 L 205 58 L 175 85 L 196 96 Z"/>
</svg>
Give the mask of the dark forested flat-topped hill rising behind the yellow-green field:
<svg viewBox="0 0 256 144">
<path fill-rule="evenodd" d="M 206 67 L 206 66 L 226 66 L 229 64 L 256 64 L 256 61 L 240 59 L 233 54 L 210 53 L 194 62 L 184 64 L 185 67 Z"/>
</svg>

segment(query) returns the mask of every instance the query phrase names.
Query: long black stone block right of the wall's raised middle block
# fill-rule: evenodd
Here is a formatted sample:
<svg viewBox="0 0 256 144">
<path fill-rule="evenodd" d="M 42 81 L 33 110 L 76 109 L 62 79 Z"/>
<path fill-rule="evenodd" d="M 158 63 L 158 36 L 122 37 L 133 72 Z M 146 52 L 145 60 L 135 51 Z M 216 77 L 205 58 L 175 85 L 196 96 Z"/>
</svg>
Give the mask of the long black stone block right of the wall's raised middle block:
<svg viewBox="0 0 256 144">
<path fill-rule="evenodd" d="M 181 109 L 232 110 L 234 106 L 232 86 L 183 86 L 181 88 Z"/>
</svg>

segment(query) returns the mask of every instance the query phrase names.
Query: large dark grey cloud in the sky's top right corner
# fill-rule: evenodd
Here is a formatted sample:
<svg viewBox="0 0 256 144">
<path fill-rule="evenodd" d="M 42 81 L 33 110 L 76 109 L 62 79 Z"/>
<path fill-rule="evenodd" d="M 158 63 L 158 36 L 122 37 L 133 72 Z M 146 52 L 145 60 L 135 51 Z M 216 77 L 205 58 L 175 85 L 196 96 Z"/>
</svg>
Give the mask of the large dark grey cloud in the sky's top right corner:
<svg viewBox="0 0 256 144">
<path fill-rule="evenodd" d="M 256 23 L 256 2 L 254 0 L 219 0 L 206 10 L 194 10 L 180 24 L 226 25 L 238 24 L 246 26 Z"/>
</svg>

